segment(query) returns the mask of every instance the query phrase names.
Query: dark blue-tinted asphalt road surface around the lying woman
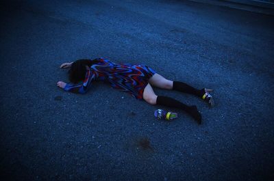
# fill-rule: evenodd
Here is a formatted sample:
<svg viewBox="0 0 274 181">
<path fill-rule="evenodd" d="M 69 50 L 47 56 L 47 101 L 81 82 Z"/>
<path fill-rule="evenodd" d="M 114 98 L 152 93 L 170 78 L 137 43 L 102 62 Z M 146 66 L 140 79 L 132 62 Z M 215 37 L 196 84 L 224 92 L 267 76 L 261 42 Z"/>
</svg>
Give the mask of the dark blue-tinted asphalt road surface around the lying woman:
<svg viewBox="0 0 274 181">
<path fill-rule="evenodd" d="M 273 180 L 274 18 L 191 1 L 1 1 L 5 180 Z M 203 116 L 105 83 L 64 92 L 60 64 L 105 57 L 214 89 L 155 89 Z M 155 109 L 178 111 L 174 122 Z M 1 180 L 4 180 L 3 178 Z"/>
</svg>

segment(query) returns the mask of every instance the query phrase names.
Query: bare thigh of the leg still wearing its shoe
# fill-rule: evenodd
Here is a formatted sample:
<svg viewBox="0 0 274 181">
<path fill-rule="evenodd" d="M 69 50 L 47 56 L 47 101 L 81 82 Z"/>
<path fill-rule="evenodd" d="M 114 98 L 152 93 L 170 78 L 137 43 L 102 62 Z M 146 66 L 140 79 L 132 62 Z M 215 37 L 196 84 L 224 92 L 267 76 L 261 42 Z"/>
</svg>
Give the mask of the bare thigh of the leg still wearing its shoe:
<svg viewBox="0 0 274 181">
<path fill-rule="evenodd" d="M 153 76 L 151 76 L 151 78 L 149 79 L 149 83 L 152 86 L 161 88 L 161 89 L 172 89 L 173 88 L 173 81 L 170 81 L 166 78 L 164 78 L 164 76 L 160 75 L 160 74 L 154 74 Z"/>
</svg>

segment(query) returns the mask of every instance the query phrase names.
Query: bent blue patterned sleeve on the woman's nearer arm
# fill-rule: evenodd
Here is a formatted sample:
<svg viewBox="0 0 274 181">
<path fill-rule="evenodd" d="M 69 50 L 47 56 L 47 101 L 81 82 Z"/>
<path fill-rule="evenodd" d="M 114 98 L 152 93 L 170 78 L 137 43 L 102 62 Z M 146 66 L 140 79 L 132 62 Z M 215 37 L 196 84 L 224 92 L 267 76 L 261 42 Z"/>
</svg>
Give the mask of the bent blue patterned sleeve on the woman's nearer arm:
<svg viewBox="0 0 274 181">
<path fill-rule="evenodd" d="M 95 81 L 95 73 L 91 70 L 87 70 L 83 85 L 73 85 L 67 83 L 64 90 L 73 93 L 85 94 L 93 81 Z"/>
</svg>

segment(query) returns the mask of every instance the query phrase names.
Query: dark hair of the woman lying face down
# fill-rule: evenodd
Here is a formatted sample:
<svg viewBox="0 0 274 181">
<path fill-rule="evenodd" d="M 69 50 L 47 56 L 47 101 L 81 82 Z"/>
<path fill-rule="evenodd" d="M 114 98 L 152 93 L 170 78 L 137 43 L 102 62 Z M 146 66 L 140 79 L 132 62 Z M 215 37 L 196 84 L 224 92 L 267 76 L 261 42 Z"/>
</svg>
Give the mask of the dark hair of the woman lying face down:
<svg viewBox="0 0 274 181">
<path fill-rule="evenodd" d="M 97 59 L 78 59 L 71 64 L 71 69 L 69 70 L 69 81 L 72 83 L 79 83 L 79 81 L 84 81 L 86 76 L 86 66 L 90 67 L 98 62 Z"/>
</svg>

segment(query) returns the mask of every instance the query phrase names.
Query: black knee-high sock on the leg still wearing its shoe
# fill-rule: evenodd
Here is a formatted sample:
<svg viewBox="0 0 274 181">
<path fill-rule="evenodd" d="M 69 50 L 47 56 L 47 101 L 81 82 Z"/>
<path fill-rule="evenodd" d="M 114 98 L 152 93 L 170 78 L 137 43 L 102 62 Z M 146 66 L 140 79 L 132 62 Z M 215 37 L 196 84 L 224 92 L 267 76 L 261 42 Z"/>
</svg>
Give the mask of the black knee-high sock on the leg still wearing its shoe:
<svg viewBox="0 0 274 181">
<path fill-rule="evenodd" d="M 179 81 L 173 81 L 173 90 L 177 90 L 179 92 L 184 92 L 188 94 L 194 94 L 196 96 L 199 96 L 200 98 L 204 94 L 203 89 L 195 89 L 194 87 L 191 87 L 190 85 L 187 85 L 186 83 L 182 83 Z"/>
</svg>

